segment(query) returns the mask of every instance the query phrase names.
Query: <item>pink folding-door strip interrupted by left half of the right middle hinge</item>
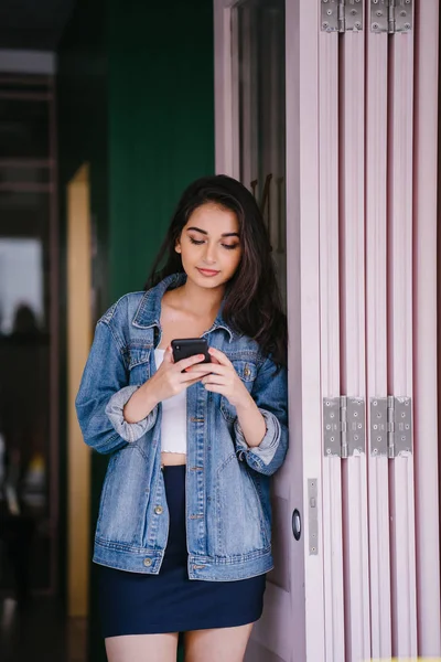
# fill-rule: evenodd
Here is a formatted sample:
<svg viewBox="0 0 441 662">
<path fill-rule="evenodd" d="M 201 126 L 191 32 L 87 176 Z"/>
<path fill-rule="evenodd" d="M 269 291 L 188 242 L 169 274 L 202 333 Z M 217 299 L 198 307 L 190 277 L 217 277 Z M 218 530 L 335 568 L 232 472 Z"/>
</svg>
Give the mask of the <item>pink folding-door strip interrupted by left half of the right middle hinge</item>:
<svg viewBox="0 0 441 662">
<path fill-rule="evenodd" d="M 370 8 L 366 3 L 365 25 Z M 387 108 L 388 34 L 366 31 L 366 409 L 387 391 Z M 369 490 L 369 585 L 372 656 L 391 655 L 389 478 L 387 453 L 372 456 Z"/>
</svg>

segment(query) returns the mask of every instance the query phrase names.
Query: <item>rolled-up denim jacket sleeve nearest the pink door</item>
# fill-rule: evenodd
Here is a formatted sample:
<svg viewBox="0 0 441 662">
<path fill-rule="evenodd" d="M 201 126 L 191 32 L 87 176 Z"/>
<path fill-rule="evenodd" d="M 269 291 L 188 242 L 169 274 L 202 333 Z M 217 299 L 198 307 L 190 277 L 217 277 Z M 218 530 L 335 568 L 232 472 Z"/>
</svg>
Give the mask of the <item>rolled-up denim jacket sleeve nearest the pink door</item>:
<svg viewBox="0 0 441 662">
<path fill-rule="evenodd" d="M 267 431 L 256 447 L 245 440 L 238 418 L 235 420 L 236 451 L 248 466 L 266 476 L 275 473 L 283 463 L 288 450 L 288 384 L 287 370 L 277 374 L 276 365 L 267 359 L 259 369 L 252 387 L 252 398 L 265 418 Z"/>
</svg>

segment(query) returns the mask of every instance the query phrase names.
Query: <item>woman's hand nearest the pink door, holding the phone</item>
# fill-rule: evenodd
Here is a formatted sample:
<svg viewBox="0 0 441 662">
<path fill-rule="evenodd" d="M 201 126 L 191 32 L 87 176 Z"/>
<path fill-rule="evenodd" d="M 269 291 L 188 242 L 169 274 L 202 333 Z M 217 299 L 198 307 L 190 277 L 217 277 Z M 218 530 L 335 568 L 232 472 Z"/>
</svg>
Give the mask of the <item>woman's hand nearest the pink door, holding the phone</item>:
<svg viewBox="0 0 441 662">
<path fill-rule="evenodd" d="M 249 407 L 250 402 L 254 401 L 229 359 L 215 348 L 209 348 L 208 353 L 212 356 L 212 363 L 193 365 L 187 374 L 198 375 L 207 391 L 220 393 L 234 407 L 239 409 Z M 207 369 L 211 374 L 206 374 Z"/>
</svg>

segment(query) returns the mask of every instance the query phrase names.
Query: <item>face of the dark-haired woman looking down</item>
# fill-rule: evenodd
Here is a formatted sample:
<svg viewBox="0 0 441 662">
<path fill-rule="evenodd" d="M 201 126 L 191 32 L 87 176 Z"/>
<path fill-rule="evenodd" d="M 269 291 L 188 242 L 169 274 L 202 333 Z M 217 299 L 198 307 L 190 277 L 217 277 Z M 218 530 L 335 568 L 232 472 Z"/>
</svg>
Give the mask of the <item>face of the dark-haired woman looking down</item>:
<svg viewBox="0 0 441 662">
<path fill-rule="evenodd" d="M 176 242 L 187 277 L 204 288 L 224 286 L 241 257 L 239 222 L 230 210 L 215 203 L 197 207 Z"/>
</svg>

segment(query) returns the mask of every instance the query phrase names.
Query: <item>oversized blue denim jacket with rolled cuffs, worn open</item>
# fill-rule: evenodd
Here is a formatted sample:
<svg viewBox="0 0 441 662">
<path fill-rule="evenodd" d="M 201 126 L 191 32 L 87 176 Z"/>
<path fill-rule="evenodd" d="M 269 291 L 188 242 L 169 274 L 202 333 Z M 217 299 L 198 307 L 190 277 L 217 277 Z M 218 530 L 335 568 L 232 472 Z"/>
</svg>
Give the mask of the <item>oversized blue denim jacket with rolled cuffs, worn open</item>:
<svg viewBox="0 0 441 662">
<path fill-rule="evenodd" d="M 110 453 L 96 527 L 94 560 L 157 575 L 169 532 L 161 470 L 161 404 L 129 424 L 122 409 L 155 372 L 161 342 L 161 299 L 185 281 L 162 280 L 147 292 L 126 295 L 98 321 L 76 408 L 86 444 Z M 201 383 L 187 388 L 186 537 L 189 577 L 226 581 L 272 568 L 270 476 L 288 447 L 287 373 L 259 345 L 218 314 L 204 334 L 224 352 L 266 421 L 249 448 L 226 397 Z"/>
</svg>

